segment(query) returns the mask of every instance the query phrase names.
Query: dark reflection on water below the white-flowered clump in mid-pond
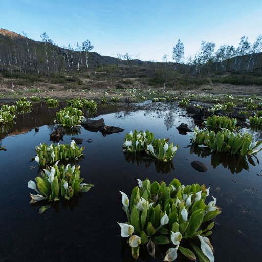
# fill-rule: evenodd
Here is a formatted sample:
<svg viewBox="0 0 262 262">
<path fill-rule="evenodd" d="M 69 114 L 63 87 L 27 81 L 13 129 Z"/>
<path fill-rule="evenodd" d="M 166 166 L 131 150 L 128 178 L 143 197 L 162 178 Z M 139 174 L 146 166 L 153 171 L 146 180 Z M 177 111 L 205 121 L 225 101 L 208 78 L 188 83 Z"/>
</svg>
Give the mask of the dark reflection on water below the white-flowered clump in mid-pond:
<svg viewBox="0 0 262 262">
<path fill-rule="evenodd" d="M 133 154 L 131 152 L 124 152 L 125 160 L 132 165 L 144 165 L 145 168 L 155 166 L 157 173 L 168 174 L 171 173 L 171 170 L 174 170 L 173 161 L 164 163 L 156 158 L 150 157 L 146 152 L 137 152 Z"/>
</svg>

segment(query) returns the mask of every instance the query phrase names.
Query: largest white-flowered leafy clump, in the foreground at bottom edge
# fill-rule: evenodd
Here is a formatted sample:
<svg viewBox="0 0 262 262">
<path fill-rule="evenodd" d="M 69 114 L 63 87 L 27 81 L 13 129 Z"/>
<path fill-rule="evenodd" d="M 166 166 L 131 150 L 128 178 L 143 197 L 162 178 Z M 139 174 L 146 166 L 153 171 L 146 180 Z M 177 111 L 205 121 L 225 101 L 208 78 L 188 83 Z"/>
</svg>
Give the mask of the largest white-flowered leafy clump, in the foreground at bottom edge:
<svg viewBox="0 0 262 262">
<path fill-rule="evenodd" d="M 183 186 L 178 179 L 172 180 L 170 185 L 138 179 L 138 185 L 130 200 L 120 191 L 128 222 L 118 224 L 121 236 L 128 238 L 133 257 L 138 258 L 140 245 L 147 245 L 147 251 L 155 257 L 156 245 L 171 244 L 174 247 L 167 250 L 164 261 L 174 261 L 178 251 L 197 260 L 192 250 L 200 261 L 214 261 L 213 247 L 207 236 L 211 235 L 215 224 L 211 220 L 221 210 L 214 197 L 205 204 L 210 187 Z M 191 246 L 192 250 L 184 245 Z"/>
</svg>

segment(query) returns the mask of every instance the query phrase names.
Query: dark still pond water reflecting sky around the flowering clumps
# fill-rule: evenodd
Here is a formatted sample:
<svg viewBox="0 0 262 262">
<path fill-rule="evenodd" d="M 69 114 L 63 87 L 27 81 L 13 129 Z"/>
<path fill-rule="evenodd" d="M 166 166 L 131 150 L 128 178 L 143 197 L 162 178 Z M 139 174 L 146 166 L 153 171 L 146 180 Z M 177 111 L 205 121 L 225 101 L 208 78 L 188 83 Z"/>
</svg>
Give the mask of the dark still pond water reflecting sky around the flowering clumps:
<svg viewBox="0 0 262 262">
<path fill-rule="evenodd" d="M 43 215 L 39 205 L 30 205 L 27 182 L 34 180 L 38 167 L 34 147 L 49 142 L 54 129 L 57 109 L 43 104 L 31 113 L 19 115 L 8 134 L 0 135 L 0 261 L 133 261 L 130 249 L 120 236 L 117 222 L 125 222 L 121 190 L 130 195 L 137 178 L 169 183 L 177 178 L 182 184 L 199 183 L 211 186 L 222 214 L 216 219 L 211 241 L 215 261 L 261 261 L 262 248 L 262 175 L 261 165 L 246 159 L 212 154 L 190 147 L 187 135 L 180 135 L 176 126 L 187 123 L 194 128 L 192 118 L 171 103 L 110 105 L 99 108 L 95 118 L 103 117 L 106 125 L 130 130 L 150 130 L 155 137 L 170 138 L 179 144 L 173 162 L 124 156 L 122 145 L 125 132 L 103 137 L 100 132 L 81 129 L 84 139 L 84 159 L 79 163 L 85 183 L 95 184 L 88 193 L 71 202 L 58 202 Z M 39 126 L 36 133 L 34 127 Z M 253 132 L 259 137 L 259 133 Z M 72 136 L 64 136 L 70 143 Z M 86 142 L 92 139 L 92 143 Z M 203 156 L 203 158 L 202 158 Z M 261 160 L 261 154 L 257 155 Z M 208 172 L 195 171 L 190 163 L 200 160 Z M 211 196 L 209 197 L 211 201 Z M 155 260 L 143 249 L 139 261 L 162 261 L 167 250 L 160 247 Z M 178 261 L 187 261 L 178 257 Z"/>
</svg>

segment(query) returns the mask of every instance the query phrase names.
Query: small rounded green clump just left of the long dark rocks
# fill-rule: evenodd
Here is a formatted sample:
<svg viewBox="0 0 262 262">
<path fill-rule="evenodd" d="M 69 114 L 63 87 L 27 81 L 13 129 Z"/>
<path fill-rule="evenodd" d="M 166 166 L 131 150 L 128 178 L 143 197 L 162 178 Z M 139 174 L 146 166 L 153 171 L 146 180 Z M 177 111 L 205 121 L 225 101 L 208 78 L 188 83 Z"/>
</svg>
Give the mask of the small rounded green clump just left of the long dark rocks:
<svg viewBox="0 0 262 262">
<path fill-rule="evenodd" d="M 67 127 L 78 126 L 82 122 L 82 114 L 82 111 L 78 108 L 65 107 L 56 113 L 55 122 Z"/>
</svg>

